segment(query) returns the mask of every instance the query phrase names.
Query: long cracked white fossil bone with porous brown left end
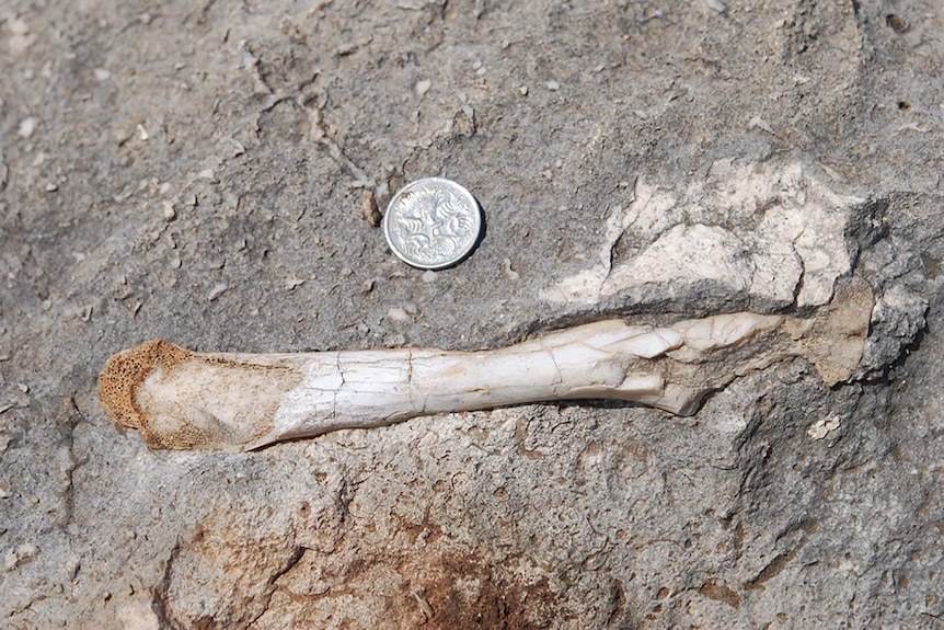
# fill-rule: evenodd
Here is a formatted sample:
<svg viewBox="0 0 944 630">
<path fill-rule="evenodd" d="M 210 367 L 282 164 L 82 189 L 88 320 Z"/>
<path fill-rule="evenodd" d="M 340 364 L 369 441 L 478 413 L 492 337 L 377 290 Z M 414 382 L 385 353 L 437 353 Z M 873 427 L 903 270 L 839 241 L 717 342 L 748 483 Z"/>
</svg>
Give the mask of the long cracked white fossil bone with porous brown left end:
<svg viewBox="0 0 944 630">
<path fill-rule="evenodd" d="M 417 415 L 615 399 L 679 415 L 737 376 L 802 356 L 850 378 L 872 291 L 853 280 L 811 319 L 737 312 L 665 328 L 608 320 L 500 350 L 198 354 L 151 341 L 108 359 L 100 398 L 151 448 L 251 450 Z"/>
</svg>

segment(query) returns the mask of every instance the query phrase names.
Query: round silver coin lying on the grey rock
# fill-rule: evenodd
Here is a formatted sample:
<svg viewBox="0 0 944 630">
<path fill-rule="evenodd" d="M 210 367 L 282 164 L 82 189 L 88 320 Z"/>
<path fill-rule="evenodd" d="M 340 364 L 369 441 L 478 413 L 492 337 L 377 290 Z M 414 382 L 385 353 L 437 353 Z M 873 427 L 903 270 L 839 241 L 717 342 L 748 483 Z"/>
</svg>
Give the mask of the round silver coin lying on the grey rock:
<svg viewBox="0 0 944 630">
<path fill-rule="evenodd" d="M 390 249 L 408 265 L 441 270 L 472 251 L 482 210 L 472 194 L 450 180 L 427 177 L 401 188 L 383 215 Z"/>
</svg>

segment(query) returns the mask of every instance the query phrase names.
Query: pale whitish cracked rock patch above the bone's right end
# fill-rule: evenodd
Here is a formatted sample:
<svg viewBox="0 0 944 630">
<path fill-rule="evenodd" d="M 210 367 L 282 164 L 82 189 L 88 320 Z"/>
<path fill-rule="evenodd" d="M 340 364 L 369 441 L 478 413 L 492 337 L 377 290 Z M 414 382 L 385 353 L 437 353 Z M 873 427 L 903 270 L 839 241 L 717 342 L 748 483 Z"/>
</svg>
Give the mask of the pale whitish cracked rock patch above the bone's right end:
<svg viewBox="0 0 944 630">
<path fill-rule="evenodd" d="M 863 199 L 830 192 L 798 162 L 714 162 L 680 193 L 637 180 L 632 203 L 608 220 L 600 263 L 543 296 L 638 305 L 710 285 L 756 308 L 827 303 L 851 270 L 845 232 Z"/>
</svg>

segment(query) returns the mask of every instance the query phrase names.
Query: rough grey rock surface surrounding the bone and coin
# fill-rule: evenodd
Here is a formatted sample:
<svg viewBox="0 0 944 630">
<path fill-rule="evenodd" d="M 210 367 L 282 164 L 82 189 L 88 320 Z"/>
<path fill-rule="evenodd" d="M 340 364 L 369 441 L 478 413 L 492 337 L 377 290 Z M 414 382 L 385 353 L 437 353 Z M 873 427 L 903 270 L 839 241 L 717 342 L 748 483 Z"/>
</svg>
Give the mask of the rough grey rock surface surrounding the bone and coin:
<svg viewBox="0 0 944 630">
<path fill-rule="evenodd" d="M 942 34 L 930 0 L 3 3 L 0 625 L 940 626 Z M 421 176 L 484 208 L 456 268 L 361 218 Z M 688 419 L 152 453 L 96 400 L 148 339 L 493 347 L 848 276 L 855 379 L 783 362 Z"/>
</svg>

